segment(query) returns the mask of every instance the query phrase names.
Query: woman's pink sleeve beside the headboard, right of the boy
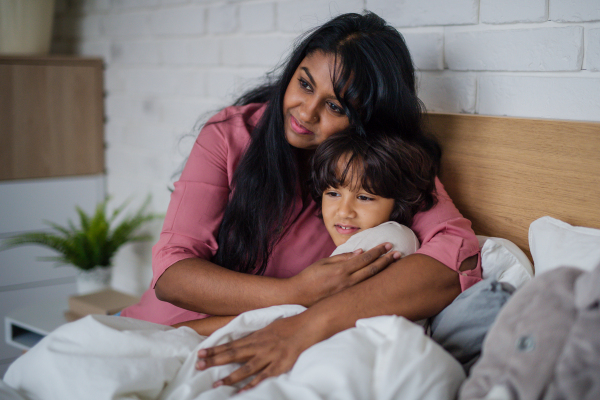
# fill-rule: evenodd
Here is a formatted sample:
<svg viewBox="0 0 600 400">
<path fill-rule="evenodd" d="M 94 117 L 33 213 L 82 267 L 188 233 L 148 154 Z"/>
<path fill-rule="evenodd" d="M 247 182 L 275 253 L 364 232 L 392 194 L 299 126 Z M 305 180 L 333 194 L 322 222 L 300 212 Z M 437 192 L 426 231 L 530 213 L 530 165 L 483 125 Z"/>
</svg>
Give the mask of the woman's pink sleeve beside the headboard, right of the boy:
<svg viewBox="0 0 600 400">
<path fill-rule="evenodd" d="M 435 183 L 437 204 L 428 211 L 417 213 L 413 219 L 411 228 L 421 242 L 417 253 L 458 271 L 465 259 L 479 255 L 479 243 L 471 229 L 471 222 L 454 206 L 439 179 L 436 178 Z M 478 257 L 475 269 L 459 272 L 459 279 L 463 291 L 479 282 L 481 257 Z"/>
</svg>

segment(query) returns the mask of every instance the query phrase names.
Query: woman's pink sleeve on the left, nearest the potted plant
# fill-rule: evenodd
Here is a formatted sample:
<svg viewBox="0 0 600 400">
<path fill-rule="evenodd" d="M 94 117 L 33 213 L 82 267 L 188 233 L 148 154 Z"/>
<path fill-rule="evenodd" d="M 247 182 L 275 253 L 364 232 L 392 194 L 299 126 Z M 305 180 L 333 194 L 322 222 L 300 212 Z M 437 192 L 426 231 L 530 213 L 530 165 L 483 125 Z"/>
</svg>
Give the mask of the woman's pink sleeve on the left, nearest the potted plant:
<svg viewBox="0 0 600 400">
<path fill-rule="evenodd" d="M 205 125 L 174 185 L 160 238 L 152 249 L 151 287 L 177 261 L 209 260 L 217 251 L 216 235 L 229 201 L 231 177 L 249 141 L 244 120 L 228 114 L 225 109 Z"/>
</svg>

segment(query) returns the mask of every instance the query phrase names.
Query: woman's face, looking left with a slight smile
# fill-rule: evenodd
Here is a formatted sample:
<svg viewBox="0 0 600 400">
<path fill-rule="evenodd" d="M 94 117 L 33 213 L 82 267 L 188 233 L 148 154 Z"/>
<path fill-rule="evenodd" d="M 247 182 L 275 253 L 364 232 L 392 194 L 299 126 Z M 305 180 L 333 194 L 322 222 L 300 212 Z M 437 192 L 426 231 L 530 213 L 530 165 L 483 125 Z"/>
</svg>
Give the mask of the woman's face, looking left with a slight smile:
<svg viewBox="0 0 600 400">
<path fill-rule="evenodd" d="M 285 137 L 300 149 L 315 149 L 350 122 L 335 97 L 331 77 L 334 57 L 321 51 L 302 60 L 283 98 Z"/>
</svg>

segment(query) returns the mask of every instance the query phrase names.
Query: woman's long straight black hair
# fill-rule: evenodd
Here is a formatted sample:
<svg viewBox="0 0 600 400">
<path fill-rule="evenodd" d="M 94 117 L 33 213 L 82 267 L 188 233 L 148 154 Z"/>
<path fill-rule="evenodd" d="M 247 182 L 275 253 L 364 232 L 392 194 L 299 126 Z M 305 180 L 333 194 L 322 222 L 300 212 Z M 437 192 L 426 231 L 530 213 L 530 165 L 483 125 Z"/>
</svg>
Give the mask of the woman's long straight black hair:
<svg viewBox="0 0 600 400">
<path fill-rule="evenodd" d="M 422 131 L 422 104 L 402 36 L 376 14 L 340 15 L 301 38 L 272 82 L 234 103 L 267 107 L 233 176 L 213 260 L 218 265 L 263 274 L 273 246 L 294 217 L 299 167 L 284 133 L 283 98 L 302 60 L 315 51 L 335 57 L 334 92 L 357 134 L 394 132 L 425 149 L 437 172 L 440 148 Z"/>
</svg>

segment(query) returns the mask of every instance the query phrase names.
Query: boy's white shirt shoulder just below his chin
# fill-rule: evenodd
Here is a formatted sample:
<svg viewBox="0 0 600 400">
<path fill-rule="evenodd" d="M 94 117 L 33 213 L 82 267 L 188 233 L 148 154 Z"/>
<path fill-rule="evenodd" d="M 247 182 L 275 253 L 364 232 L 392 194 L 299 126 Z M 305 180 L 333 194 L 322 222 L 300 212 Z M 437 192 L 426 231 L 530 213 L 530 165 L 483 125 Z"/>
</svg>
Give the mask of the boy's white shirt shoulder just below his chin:
<svg viewBox="0 0 600 400">
<path fill-rule="evenodd" d="M 417 235 L 410 228 L 394 221 L 388 221 L 352 235 L 346 243 L 339 245 L 331 255 L 351 253 L 356 249 L 367 251 L 385 242 L 392 244 L 393 247 L 390 251 L 399 251 L 402 253 L 402 257 L 414 253 L 420 247 Z"/>
</svg>

